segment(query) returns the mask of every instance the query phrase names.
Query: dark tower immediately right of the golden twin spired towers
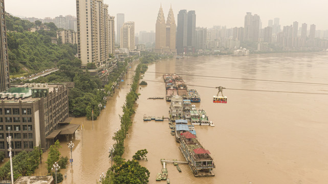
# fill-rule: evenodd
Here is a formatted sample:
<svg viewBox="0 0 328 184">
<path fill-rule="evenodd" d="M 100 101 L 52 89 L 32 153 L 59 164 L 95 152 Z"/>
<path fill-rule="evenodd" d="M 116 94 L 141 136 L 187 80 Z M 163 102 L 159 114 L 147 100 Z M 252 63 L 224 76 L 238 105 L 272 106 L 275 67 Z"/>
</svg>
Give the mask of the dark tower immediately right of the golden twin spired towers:
<svg viewBox="0 0 328 184">
<path fill-rule="evenodd" d="M 178 13 L 177 53 L 184 53 L 187 47 L 187 10 Z"/>
</svg>

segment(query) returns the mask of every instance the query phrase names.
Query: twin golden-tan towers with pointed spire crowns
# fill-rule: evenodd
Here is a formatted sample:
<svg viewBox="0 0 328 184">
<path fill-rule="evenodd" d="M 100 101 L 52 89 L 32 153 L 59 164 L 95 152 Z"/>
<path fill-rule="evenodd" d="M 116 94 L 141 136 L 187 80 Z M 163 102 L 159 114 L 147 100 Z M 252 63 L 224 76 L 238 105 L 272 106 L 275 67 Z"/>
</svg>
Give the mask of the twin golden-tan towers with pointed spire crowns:
<svg viewBox="0 0 328 184">
<path fill-rule="evenodd" d="M 176 21 L 174 20 L 172 7 L 170 7 L 167 15 L 167 21 L 165 22 L 165 17 L 161 5 L 156 20 L 156 53 L 177 53 L 176 30 L 177 26 Z"/>
</svg>

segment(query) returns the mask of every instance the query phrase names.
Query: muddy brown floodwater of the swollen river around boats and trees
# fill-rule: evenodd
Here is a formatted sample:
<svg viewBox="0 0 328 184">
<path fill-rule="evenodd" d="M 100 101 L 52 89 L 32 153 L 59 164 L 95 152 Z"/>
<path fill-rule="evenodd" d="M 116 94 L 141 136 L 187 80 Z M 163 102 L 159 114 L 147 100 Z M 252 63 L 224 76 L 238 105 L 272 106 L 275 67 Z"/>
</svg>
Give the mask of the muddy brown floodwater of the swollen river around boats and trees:
<svg viewBox="0 0 328 184">
<path fill-rule="evenodd" d="M 215 124 L 195 126 L 198 140 L 214 158 L 215 176 L 195 178 L 188 165 L 180 165 L 179 173 L 168 164 L 171 183 L 328 183 L 328 95 L 226 89 L 223 94 L 228 103 L 214 104 L 212 97 L 217 90 L 200 87 L 328 93 L 328 85 L 245 80 L 328 83 L 327 71 L 326 53 L 190 57 L 150 64 L 143 78 L 148 85 L 138 89 L 141 95 L 123 157 L 131 159 L 137 150 L 147 149 L 148 162 L 142 161 L 141 165 L 150 171 L 149 183 L 166 183 L 155 181 L 161 172 L 161 158 L 184 161 L 167 120 L 144 122 L 143 114 L 168 117 L 169 102 L 147 98 L 165 97 L 162 73 L 186 74 L 181 75 L 185 83 L 201 95 L 201 102 L 194 104 L 206 110 Z M 74 165 L 73 169 L 68 167 L 63 183 L 95 183 L 110 167 L 108 148 L 114 144 L 112 136 L 119 127 L 118 114 L 122 114 L 132 75 L 129 72 L 107 102 L 100 119 L 72 121 L 84 126 L 73 140 Z M 61 153 L 69 156 L 67 143 L 61 144 Z"/>
</svg>

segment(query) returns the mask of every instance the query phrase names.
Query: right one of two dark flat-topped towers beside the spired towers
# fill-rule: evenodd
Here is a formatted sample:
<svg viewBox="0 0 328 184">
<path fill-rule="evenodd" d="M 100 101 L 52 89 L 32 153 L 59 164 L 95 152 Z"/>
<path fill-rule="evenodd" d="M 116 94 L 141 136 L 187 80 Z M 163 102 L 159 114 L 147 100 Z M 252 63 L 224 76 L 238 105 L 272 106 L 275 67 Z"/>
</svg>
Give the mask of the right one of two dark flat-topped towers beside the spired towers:
<svg viewBox="0 0 328 184">
<path fill-rule="evenodd" d="M 196 47 L 196 13 L 194 10 L 188 11 L 187 19 L 187 52 L 194 53 Z"/>
</svg>

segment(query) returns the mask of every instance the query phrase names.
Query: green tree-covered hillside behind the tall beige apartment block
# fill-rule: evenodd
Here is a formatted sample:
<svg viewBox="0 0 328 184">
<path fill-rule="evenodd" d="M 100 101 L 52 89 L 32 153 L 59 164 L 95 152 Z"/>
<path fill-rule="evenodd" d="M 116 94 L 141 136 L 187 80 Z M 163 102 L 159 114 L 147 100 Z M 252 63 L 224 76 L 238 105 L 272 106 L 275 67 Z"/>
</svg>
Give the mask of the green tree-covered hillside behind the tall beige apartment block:
<svg viewBox="0 0 328 184">
<path fill-rule="evenodd" d="M 40 21 L 30 22 L 9 15 L 6 16 L 6 26 L 11 75 L 36 73 L 56 67 L 59 60 L 75 58 L 76 45 L 51 42 L 51 37 L 56 37 L 58 30 L 53 22 L 42 24 Z M 37 26 L 47 26 L 50 31 L 28 31 Z"/>
</svg>

